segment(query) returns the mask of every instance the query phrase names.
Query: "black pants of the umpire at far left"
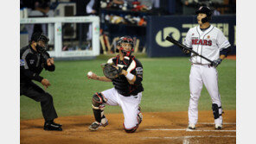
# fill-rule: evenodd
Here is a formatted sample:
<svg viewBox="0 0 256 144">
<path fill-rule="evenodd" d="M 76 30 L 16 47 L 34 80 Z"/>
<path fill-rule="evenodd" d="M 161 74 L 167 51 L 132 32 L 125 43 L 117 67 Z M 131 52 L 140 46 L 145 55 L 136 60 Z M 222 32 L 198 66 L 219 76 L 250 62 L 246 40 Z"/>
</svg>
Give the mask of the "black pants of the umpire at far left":
<svg viewBox="0 0 256 144">
<path fill-rule="evenodd" d="M 20 95 L 32 98 L 36 102 L 41 102 L 42 116 L 45 121 L 51 121 L 58 117 L 54 109 L 53 97 L 48 92 L 43 91 L 40 86 L 30 81 L 21 83 L 20 90 Z"/>
</svg>

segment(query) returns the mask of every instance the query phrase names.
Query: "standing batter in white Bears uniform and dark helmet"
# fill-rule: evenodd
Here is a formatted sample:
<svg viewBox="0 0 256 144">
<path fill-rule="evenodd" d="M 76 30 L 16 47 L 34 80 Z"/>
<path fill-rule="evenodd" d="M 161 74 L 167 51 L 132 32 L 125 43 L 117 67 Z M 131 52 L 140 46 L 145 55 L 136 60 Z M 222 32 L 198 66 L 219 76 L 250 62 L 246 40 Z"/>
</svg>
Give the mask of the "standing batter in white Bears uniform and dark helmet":
<svg viewBox="0 0 256 144">
<path fill-rule="evenodd" d="M 191 53 L 191 70 L 189 75 L 189 128 L 195 129 L 198 120 L 198 100 L 201 95 L 202 85 L 205 85 L 212 99 L 215 129 L 222 128 L 221 95 L 218 88 L 218 72 L 216 67 L 227 57 L 230 43 L 219 28 L 210 25 L 212 10 L 202 6 L 195 11 L 198 26 L 190 28 L 183 44 L 195 52 L 214 61 L 211 66 L 206 59 Z M 183 49 L 183 53 L 189 53 Z"/>
</svg>

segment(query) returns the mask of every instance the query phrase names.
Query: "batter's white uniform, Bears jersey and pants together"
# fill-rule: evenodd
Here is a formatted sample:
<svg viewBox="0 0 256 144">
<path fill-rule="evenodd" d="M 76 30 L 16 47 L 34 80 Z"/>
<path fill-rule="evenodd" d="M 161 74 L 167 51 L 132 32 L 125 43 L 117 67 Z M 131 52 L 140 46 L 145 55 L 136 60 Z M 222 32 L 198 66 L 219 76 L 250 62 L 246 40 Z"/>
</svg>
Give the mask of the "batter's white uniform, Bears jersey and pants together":
<svg viewBox="0 0 256 144">
<path fill-rule="evenodd" d="M 187 47 L 192 47 L 197 53 L 202 56 L 215 60 L 220 58 L 220 51 L 223 48 L 230 47 L 229 41 L 224 36 L 219 28 L 210 26 L 205 31 L 202 31 L 198 25 L 195 28 L 190 28 L 186 35 L 183 44 Z M 204 84 L 212 99 L 212 103 L 216 103 L 221 107 L 221 95 L 218 89 L 218 72 L 214 66 L 209 66 L 206 59 L 195 56 L 191 53 L 190 61 L 192 63 L 189 75 L 189 124 L 196 124 L 198 120 L 198 100 L 201 95 L 202 85 Z M 222 109 L 219 109 L 219 114 Z M 222 124 L 222 116 L 214 120 L 215 124 Z"/>
</svg>

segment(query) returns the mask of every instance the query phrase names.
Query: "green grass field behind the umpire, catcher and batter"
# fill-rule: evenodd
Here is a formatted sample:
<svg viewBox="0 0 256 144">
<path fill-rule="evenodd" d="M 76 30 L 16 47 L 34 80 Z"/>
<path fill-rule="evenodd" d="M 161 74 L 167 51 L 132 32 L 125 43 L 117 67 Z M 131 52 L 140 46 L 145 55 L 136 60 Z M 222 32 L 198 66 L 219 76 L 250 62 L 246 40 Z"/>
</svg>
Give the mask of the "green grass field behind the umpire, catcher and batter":
<svg viewBox="0 0 256 144">
<path fill-rule="evenodd" d="M 48 92 L 54 97 L 58 116 L 93 115 L 93 93 L 112 88 L 112 83 L 88 80 L 88 71 L 102 74 L 101 63 L 106 57 L 93 60 L 55 61 L 55 72 L 42 72 L 51 86 Z M 139 56 L 144 66 L 144 92 L 141 102 L 145 111 L 186 111 L 189 106 L 189 58 L 156 58 Z M 236 109 L 236 63 L 225 59 L 218 67 L 219 88 L 224 110 Z M 41 85 L 39 83 L 36 83 Z M 42 85 L 41 85 L 42 86 Z M 21 119 L 42 118 L 40 103 L 21 96 Z M 199 110 L 211 110 L 211 99 L 203 87 Z M 106 113 L 119 113 L 117 106 L 106 106 Z"/>
</svg>

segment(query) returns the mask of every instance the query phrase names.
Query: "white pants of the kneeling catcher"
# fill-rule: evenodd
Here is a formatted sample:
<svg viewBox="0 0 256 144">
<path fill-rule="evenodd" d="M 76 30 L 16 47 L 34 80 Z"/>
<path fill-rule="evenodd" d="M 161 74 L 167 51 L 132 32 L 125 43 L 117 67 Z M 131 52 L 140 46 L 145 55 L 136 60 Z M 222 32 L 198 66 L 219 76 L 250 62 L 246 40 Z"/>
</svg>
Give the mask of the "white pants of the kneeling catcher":
<svg viewBox="0 0 256 144">
<path fill-rule="evenodd" d="M 107 105 L 119 105 L 122 108 L 125 116 L 124 126 L 126 129 L 134 128 L 137 126 L 137 116 L 140 112 L 138 110 L 138 105 L 141 101 L 142 92 L 139 92 L 137 96 L 131 97 L 120 95 L 115 88 L 102 91 L 101 93 L 104 97 L 106 97 Z"/>
</svg>

